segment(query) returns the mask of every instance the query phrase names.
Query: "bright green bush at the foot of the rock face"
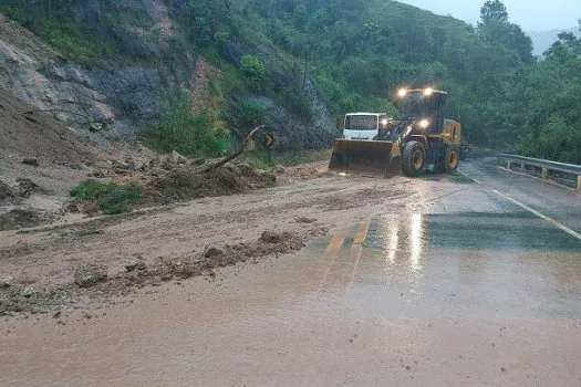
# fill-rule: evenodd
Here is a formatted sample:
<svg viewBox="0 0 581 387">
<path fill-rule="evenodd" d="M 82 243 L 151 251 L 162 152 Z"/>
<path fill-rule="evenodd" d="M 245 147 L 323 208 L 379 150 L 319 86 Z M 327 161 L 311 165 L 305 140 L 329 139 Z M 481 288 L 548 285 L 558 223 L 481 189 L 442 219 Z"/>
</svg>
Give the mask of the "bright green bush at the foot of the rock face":
<svg viewBox="0 0 581 387">
<path fill-rule="evenodd" d="M 160 109 L 162 117 L 142 133 L 144 142 L 154 150 L 176 150 L 188 157 L 218 157 L 230 149 L 228 138 L 216 136 L 206 116 L 191 113 L 187 96 L 165 97 Z"/>
</svg>

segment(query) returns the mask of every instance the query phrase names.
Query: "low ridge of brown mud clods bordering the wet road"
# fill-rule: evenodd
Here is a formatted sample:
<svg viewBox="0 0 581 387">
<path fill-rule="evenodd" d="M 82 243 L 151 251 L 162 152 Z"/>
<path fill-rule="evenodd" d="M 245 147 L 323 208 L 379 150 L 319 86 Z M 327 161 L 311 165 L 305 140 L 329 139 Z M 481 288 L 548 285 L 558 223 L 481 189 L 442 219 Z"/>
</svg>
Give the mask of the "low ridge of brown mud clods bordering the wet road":
<svg viewBox="0 0 581 387">
<path fill-rule="evenodd" d="M 15 285 L 7 278 L 0 280 L 0 315 L 50 313 L 64 306 L 79 307 L 83 300 L 107 300 L 172 280 L 214 278 L 216 269 L 299 251 L 310 238 L 308 233 L 264 231 L 256 241 L 208 247 L 197 255 L 163 259 L 151 265 L 137 257 L 125 265 L 125 272 L 114 276 L 107 275 L 104 264 L 89 263 L 75 270 L 71 283 L 40 290 Z"/>
</svg>

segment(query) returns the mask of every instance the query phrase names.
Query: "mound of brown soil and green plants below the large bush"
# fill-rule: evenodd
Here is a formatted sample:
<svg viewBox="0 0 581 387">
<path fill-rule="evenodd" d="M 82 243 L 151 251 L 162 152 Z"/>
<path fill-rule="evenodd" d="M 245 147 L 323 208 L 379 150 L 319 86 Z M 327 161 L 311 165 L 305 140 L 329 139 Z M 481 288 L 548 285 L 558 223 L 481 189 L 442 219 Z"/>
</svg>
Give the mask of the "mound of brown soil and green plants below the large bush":
<svg viewBox="0 0 581 387">
<path fill-rule="evenodd" d="M 251 166 L 220 160 L 188 160 L 172 153 L 138 166 L 131 159 L 111 166 L 111 182 L 90 179 L 75 187 L 66 209 L 116 215 L 134 208 L 204 197 L 227 196 L 277 185 L 277 176 Z"/>
</svg>

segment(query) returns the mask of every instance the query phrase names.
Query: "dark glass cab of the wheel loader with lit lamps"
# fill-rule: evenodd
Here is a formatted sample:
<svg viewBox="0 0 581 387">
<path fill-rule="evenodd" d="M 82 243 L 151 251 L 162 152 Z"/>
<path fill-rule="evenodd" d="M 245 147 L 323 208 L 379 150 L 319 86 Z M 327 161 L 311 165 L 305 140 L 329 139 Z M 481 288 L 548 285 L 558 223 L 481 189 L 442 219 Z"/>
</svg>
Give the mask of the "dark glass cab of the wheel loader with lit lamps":
<svg viewBox="0 0 581 387">
<path fill-rule="evenodd" d="M 446 106 L 448 93 L 433 88 L 407 90 L 397 92 L 395 105 L 403 119 L 417 123 L 417 129 L 425 134 L 440 133 L 444 127 L 442 111 Z"/>
</svg>

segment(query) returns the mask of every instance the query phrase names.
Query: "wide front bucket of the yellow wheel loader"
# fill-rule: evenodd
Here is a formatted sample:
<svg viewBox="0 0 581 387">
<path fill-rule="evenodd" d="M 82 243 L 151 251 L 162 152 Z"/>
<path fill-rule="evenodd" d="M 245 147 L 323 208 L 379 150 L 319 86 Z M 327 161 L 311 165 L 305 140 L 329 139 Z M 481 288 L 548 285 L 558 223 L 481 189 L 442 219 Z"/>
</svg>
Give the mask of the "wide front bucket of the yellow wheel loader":
<svg viewBox="0 0 581 387">
<path fill-rule="evenodd" d="M 329 169 L 378 175 L 398 174 L 400 155 L 395 155 L 394 148 L 396 147 L 390 142 L 338 139 Z"/>
</svg>

